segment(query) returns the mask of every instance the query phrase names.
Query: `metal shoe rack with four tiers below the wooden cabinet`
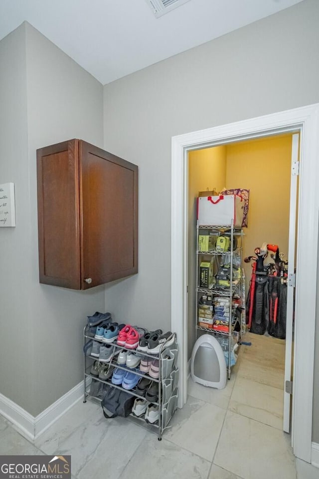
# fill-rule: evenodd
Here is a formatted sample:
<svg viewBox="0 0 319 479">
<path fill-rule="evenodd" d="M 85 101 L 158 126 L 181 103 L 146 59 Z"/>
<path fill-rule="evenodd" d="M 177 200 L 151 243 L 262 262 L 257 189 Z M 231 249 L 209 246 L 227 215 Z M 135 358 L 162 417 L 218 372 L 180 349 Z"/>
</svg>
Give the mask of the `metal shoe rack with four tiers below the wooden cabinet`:
<svg viewBox="0 0 319 479">
<path fill-rule="evenodd" d="M 83 338 L 84 338 L 84 341 L 83 341 L 84 350 L 85 350 L 86 343 L 90 340 L 98 341 L 101 343 L 101 345 L 106 344 L 103 341 L 101 340 L 99 341 L 94 338 L 94 333 L 90 332 L 89 325 L 86 325 L 84 327 Z M 165 344 L 167 344 L 172 338 L 174 339 L 173 344 L 171 344 L 168 347 L 165 347 Z M 125 346 L 119 346 L 116 343 L 115 344 L 112 343 L 111 346 L 113 346 L 114 348 L 111 361 L 108 363 L 103 363 L 103 365 L 105 366 L 110 365 L 119 369 L 124 369 L 125 371 L 133 372 L 134 374 L 137 374 L 141 378 L 147 378 L 152 380 L 155 383 L 158 383 L 159 400 L 157 403 L 152 403 L 152 404 L 159 406 L 159 420 L 155 424 L 150 424 L 150 423 L 147 424 L 143 417 L 138 418 L 134 416 L 132 413 L 130 414 L 130 419 L 134 421 L 136 420 L 138 424 L 140 425 L 143 425 L 148 428 L 150 427 L 151 429 L 153 429 L 154 432 L 157 431 L 158 440 L 161 441 L 162 433 L 166 428 L 169 427 L 168 425 L 169 421 L 171 420 L 173 414 L 176 412 L 176 409 L 177 409 L 179 370 L 176 366 L 177 355 L 178 355 L 178 345 L 176 341 L 176 334 L 172 333 L 167 338 L 167 340 L 161 344 L 160 352 L 158 354 L 148 354 L 142 351 L 137 351 L 137 353 L 141 356 L 141 358 L 147 357 L 150 359 L 159 359 L 159 379 L 154 379 L 148 374 L 143 374 L 141 371 L 130 369 L 128 367 L 117 364 L 117 354 L 115 354 L 115 352 L 118 350 L 126 349 L 126 348 Z M 94 357 L 91 355 L 87 356 L 84 353 L 84 368 L 83 368 L 83 374 L 84 374 L 83 402 L 84 403 L 86 403 L 87 398 L 90 398 L 90 399 L 92 398 L 99 401 L 102 400 L 102 397 L 96 397 L 96 396 L 90 395 L 89 388 L 90 388 L 90 384 L 92 380 L 99 381 L 103 384 L 109 384 L 113 388 L 120 389 L 122 391 L 130 393 L 137 398 L 145 399 L 145 397 L 136 393 L 136 388 L 127 390 L 122 388 L 121 386 L 113 384 L 111 381 L 112 378 L 107 380 L 102 380 L 90 374 L 94 361 L 98 361 L 98 359 L 99 359 L 98 357 Z"/>
</svg>

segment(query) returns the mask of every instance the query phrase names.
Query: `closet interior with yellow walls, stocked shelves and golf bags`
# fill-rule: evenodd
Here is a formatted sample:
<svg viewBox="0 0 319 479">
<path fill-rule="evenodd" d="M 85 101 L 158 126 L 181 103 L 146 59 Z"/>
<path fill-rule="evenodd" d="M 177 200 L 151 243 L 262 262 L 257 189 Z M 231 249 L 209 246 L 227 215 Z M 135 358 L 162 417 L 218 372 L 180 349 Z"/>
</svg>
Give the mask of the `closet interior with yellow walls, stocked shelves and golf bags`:
<svg viewBox="0 0 319 479">
<path fill-rule="evenodd" d="M 203 385 L 226 386 L 222 376 L 230 379 L 242 343 L 248 361 L 264 356 L 266 368 L 276 361 L 285 369 L 275 350 L 286 332 L 292 139 L 286 133 L 188 153 L 187 351 L 192 380 Z M 235 220 L 234 203 L 232 221 L 218 224 L 229 195 L 242 202 L 243 218 Z M 214 211 L 211 223 L 205 208 Z M 201 341 L 207 334 L 221 346 L 226 372 L 210 340 Z"/>
</svg>

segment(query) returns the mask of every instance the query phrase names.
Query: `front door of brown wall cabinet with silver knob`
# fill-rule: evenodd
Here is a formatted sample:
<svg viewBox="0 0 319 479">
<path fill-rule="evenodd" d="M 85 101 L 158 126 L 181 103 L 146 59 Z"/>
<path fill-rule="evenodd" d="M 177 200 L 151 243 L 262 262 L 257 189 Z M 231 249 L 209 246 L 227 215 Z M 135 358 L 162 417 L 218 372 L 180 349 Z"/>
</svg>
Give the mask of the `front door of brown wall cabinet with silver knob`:
<svg viewBox="0 0 319 479">
<path fill-rule="evenodd" d="M 79 157 L 81 280 L 87 289 L 138 272 L 138 167 L 84 141 Z"/>
</svg>

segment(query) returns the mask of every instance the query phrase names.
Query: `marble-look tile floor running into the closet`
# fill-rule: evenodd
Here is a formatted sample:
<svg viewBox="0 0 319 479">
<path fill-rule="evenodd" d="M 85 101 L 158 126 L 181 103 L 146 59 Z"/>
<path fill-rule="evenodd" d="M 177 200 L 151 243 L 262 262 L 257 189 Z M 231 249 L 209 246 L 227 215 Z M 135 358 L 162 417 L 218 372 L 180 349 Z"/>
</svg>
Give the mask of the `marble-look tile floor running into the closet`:
<svg viewBox="0 0 319 479">
<path fill-rule="evenodd" d="M 225 389 L 189 380 L 161 442 L 123 418 L 75 404 L 31 444 L 0 416 L 0 455 L 71 455 L 73 479 L 313 479 L 281 430 L 284 342 L 247 334 Z M 273 351 L 273 356 L 272 356 Z"/>
</svg>

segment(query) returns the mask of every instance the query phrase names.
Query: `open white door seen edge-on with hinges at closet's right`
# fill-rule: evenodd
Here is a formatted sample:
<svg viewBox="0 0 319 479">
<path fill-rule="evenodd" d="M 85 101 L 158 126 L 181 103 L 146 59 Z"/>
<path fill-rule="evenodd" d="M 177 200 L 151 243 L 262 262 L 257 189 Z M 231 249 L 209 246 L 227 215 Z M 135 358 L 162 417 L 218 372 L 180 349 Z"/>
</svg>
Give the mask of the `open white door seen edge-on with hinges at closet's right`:
<svg viewBox="0 0 319 479">
<path fill-rule="evenodd" d="M 287 280 L 287 320 L 286 320 L 286 353 L 285 353 L 285 385 L 284 385 L 284 425 L 286 433 L 291 432 L 292 406 L 292 364 L 293 364 L 293 314 L 294 314 L 294 278 L 296 250 L 296 216 L 297 189 L 299 174 L 299 133 L 292 138 L 291 183 L 290 183 L 290 219 L 288 246 L 288 280 Z"/>
</svg>

